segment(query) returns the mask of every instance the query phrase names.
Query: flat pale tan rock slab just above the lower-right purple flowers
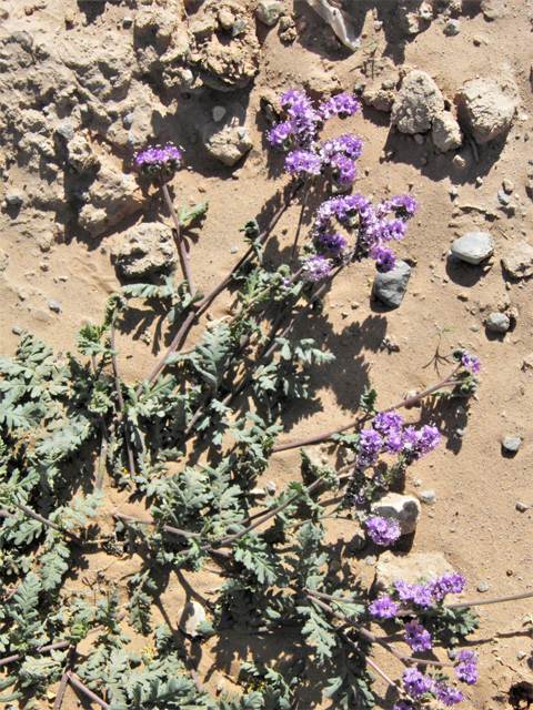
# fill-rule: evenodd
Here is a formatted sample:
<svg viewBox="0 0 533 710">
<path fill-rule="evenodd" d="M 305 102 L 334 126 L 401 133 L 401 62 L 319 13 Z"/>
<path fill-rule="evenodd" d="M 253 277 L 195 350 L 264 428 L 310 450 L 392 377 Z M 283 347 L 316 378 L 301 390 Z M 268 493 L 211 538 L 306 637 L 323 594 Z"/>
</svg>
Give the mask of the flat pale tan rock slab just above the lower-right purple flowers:
<svg viewBox="0 0 533 710">
<path fill-rule="evenodd" d="M 388 554 L 388 561 L 379 561 L 375 566 L 374 586 L 376 590 L 388 589 L 396 579 L 413 585 L 421 577 L 432 579 L 444 572 L 455 572 L 441 552 L 415 552 L 414 555 Z"/>
</svg>

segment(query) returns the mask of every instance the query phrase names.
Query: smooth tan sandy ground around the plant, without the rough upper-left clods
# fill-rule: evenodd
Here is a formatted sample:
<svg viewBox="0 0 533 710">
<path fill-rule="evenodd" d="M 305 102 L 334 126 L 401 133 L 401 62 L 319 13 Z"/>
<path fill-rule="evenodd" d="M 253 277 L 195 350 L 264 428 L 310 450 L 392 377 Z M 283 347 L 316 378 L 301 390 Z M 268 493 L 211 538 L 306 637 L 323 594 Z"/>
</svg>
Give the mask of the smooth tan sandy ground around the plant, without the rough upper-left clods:
<svg viewBox="0 0 533 710">
<path fill-rule="evenodd" d="M 29 0 L 30 1 L 30 0 Z M 73 2 L 48 0 L 34 2 L 34 10 L 24 12 L 23 2 L 3 0 L 0 10 L 9 10 L 2 20 L 3 29 L 17 27 L 34 37 L 36 42 L 53 41 L 72 32 L 99 41 L 108 31 L 122 28 L 124 16 L 135 18 L 141 11 L 134 2 Z M 33 7 L 30 2 L 29 8 Z M 201 230 L 192 230 L 189 237 L 192 271 L 201 290 L 209 290 L 243 253 L 244 246 L 238 232 L 247 220 L 261 215 L 265 203 L 275 204 L 276 195 L 288 182 L 282 172 L 282 158 L 269 153 L 262 132 L 265 123 L 259 113 L 260 97 L 264 89 L 282 92 L 301 88 L 316 77 L 331 85 L 339 84 L 351 91 L 354 83 L 364 79 L 398 77 L 402 68 L 420 68 L 433 77 L 445 98 L 453 102 L 459 87 L 476 75 L 493 77 L 511 72 L 519 85 L 521 101 L 517 118 L 506 136 L 479 146 L 474 156 L 467 142 L 459 151 L 436 154 L 429 139 L 419 145 L 413 138 L 391 131 L 389 114 L 363 108 L 361 113 L 346 120 L 342 126 L 332 121 L 328 131 L 335 134 L 351 130 L 363 140 L 359 179 L 355 185 L 365 194 L 376 197 L 409 190 L 415 195 L 419 211 L 409 225 L 408 236 L 399 246 L 401 257 L 416 261 L 406 295 L 401 306 L 391 311 L 371 296 L 373 263 L 352 266 L 335 282 L 326 298 L 323 316 L 300 327 L 302 335 L 314 336 L 333 351 L 336 362 L 314 368 L 319 399 L 312 406 L 295 404 L 290 413 L 290 430 L 281 440 L 303 438 L 324 428 L 341 426 L 353 418 L 363 387 L 372 385 L 380 395 L 380 405 L 390 406 L 403 398 L 406 392 L 422 390 L 444 376 L 452 365 L 435 359 L 435 354 L 447 355 L 450 346 L 439 333 L 449 328 L 447 339 L 476 353 L 482 363 L 481 386 L 467 407 L 466 415 L 457 413 L 456 404 L 438 404 L 433 410 L 411 409 L 412 422 L 433 419 L 444 437 L 442 445 L 408 471 L 406 491 L 434 489 L 434 506 L 423 506 L 422 517 L 412 540 L 411 551 L 442 552 L 453 567 L 467 578 L 465 598 L 479 598 L 476 587 L 489 585 L 485 596 L 497 597 L 521 594 L 532 589 L 532 508 L 524 513 L 517 503 L 533 504 L 531 480 L 531 454 L 533 429 L 531 416 L 532 373 L 523 368 L 524 358 L 533 351 L 533 305 L 531 282 L 509 281 L 501 266 L 501 257 L 516 242 L 531 239 L 533 227 L 532 202 L 525 191 L 529 158 L 533 158 L 527 142 L 533 129 L 533 99 L 530 84 L 532 61 L 530 2 L 525 0 L 502 3 L 502 16 L 487 21 L 479 3 L 465 3 L 460 17 L 461 31 L 456 37 L 445 37 L 443 19 L 435 19 L 404 45 L 405 36 L 398 21 L 389 14 L 395 3 L 352 2 L 346 9 L 356 20 L 366 50 L 349 52 L 335 47 L 331 32 L 308 6 L 296 0 L 290 7 L 294 13 L 298 37 L 292 44 L 280 40 L 278 28 L 260 24 L 260 71 L 252 83 L 234 92 L 221 93 L 207 89 L 187 101 L 174 99 L 170 105 L 177 131 L 177 140 L 184 146 L 188 169 L 178 173 L 172 187 L 177 204 L 210 199 L 210 207 Z M 444 18 L 445 20 L 445 18 Z M 383 27 L 380 28 L 380 21 Z M 378 22 L 378 23 L 376 23 Z M 3 31 L 2 29 L 2 31 Z M 120 29 L 119 37 L 129 41 L 129 32 Z M 375 40 L 375 42 L 374 42 Z M 31 68 L 21 68 L 22 81 Z M 334 79 L 336 78 L 336 80 Z M 252 150 L 233 168 L 221 165 L 208 155 L 201 141 L 183 142 L 190 122 L 212 106 L 231 100 L 248 105 L 251 119 Z M 60 116 L 61 118 L 61 116 Z M 189 122 L 189 123 L 188 123 Z M 9 126 L 8 126 L 9 130 Z M 128 148 L 93 138 L 105 160 L 113 165 L 131 164 Z M 12 151 L 9 136 L 2 135 L 4 164 Z M 95 149 L 97 150 L 97 149 Z M 393 151 L 390 160 L 380 161 L 384 150 Z M 459 171 L 452 163 L 455 154 L 466 162 Z M 9 155 L 8 155 L 9 158 Z M 122 161 L 122 162 L 121 162 Z M 10 164 L 9 161 L 7 163 Z M 13 162 L 3 172 L 4 194 L 38 190 L 39 173 Z M 482 180 L 476 180 L 476 179 Z M 496 193 L 502 180 L 514 183 L 511 195 L 513 213 L 500 209 Z M 457 196 L 450 191 L 457 187 Z M 460 209 L 471 205 L 471 209 Z M 145 210 L 169 223 L 155 195 L 145 203 Z M 74 331 L 87 322 L 99 322 L 109 293 L 120 287 L 110 262 L 112 245 L 124 230 L 141 217 L 141 212 L 124 216 L 102 234 L 91 236 L 72 226 L 67 219 L 67 203 L 61 194 L 53 210 L 34 210 L 22 204 L 13 215 L 4 209 L 0 214 L 0 247 L 9 255 L 9 264 L 0 274 L 2 307 L 0 312 L 0 339 L 2 353 L 11 355 L 18 335 L 13 327 L 30 329 L 44 338 L 56 351 L 73 349 Z M 299 210 L 293 206 L 274 230 L 269 255 L 292 242 Z M 58 217 L 59 215 L 59 217 Z M 47 223 L 48 220 L 48 223 Z M 64 230 L 56 230 L 48 251 L 41 241 L 50 220 L 61 223 Z M 311 222 L 311 211 L 305 224 Z M 446 254 L 450 243 L 471 230 L 489 231 L 496 246 L 491 260 L 483 266 L 450 265 Z M 234 246 L 237 254 L 231 253 Z M 48 300 L 61 305 L 57 314 L 48 307 Z M 211 308 L 217 318 L 225 315 L 230 297 L 223 295 Z M 486 316 L 507 306 L 519 311 L 512 332 L 497 336 L 485 331 Z M 205 322 L 203 322 L 204 324 Z M 133 333 L 120 335 L 119 365 L 122 376 L 134 382 L 155 362 L 158 345 L 153 322 L 139 325 Z M 380 345 L 385 335 L 399 345 L 399 352 L 389 353 Z M 457 436 L 456 427 L 465 430 Z M 514 458 L 502 455 L 501 442 L 505 436 L 520 436 L 522 446 Z M 328 447 L 316 448 L 328 455 Z M 282 487 L 292 479 L 299 468 L 299 454 L 288 452 L 272 458 L 269 479 Z M 102 525 L 110 526 L 110 514 L 120 505 L 124 493 L 109 484 L 109 505 Z M 134 511 L 124 505 L 123 513 Z M 356 530 L 346 526 L 336 529 L 329 526 L 329 535 L 346 541 Z M 374 568 L 365 561 L 390 555 L 372 549 L 360 559 L 349 560 L 350 574 L 362 578 L 370 586 Z M 112 567 L 100 572 L 98 584 L 105 589 L 114 581 L 124 588 L 125 576 L 135 569 L 135 560 L 117 560 L 104 554 L 89 556 L 86 577 L 95 579 L 95 571 L 109 564 Z M 92 575 L 92 577 L 91 577 Z M 204 575 L 191 580 L 200 595 L 215 586 L 215 576 Z M 69 586 L 69 585 L 68 585 Z M 79 579 L 72 580 L 79 586 Z M 184 598 L 180 580 L 172 575 L 161 597 L 161 604 L 171 620 Z M 160 613 L 157 611 L 155 613 Z M 481 627 L 475 639 L 480 651 L 480 682 L 469 689 L 464 707 L 505 707 L 510 686 L 520 680 L 533 680 L 527 659 L 532 658 L 532 640 L 524 632 L 524 623 L 531 620 L 531 601 L 483 607 Z M 285 639 L 286 640 L 286 639 Z M 138 638 L 132 648 L 142 648 L 147 640 Z M 259 656 L 268 660 L 283 652 L 281 639 L 260 643 Z M 232 638 L 208 642 L 195 651 L 201 656 L 199 669 L 207 677 L 208 687 L 217 688 L 222 673 L 237 676 L 239 662 L 250 653 L 248 639 Z M 525 657 L 519 660 L 521 655 Z M 399 668 L 388 666 L 391 672 Z M 231 681 L 227 679 L 228 687 Z M 312 692 L 312 679 L 301 698 L 300 707 L 318 707 Z M 378 682 L 376 690 L 385 697 L 385 689 Z M 309 696 L 308 696 L 309 693 Z M 381 701 L 380 701 L 381 702 Z M 41 703 L 44 707 L 44 703 Z M 63 708 L 77 707 L 71 689 L 67 691 Z M 389 701 L 384 701 L 389 707 Z"/>
</svg>

